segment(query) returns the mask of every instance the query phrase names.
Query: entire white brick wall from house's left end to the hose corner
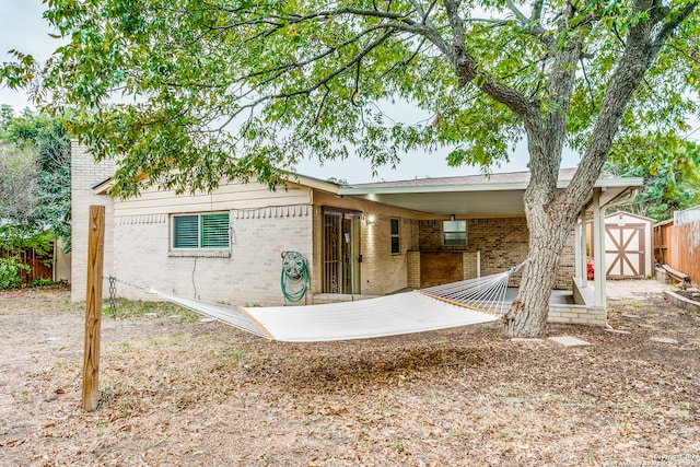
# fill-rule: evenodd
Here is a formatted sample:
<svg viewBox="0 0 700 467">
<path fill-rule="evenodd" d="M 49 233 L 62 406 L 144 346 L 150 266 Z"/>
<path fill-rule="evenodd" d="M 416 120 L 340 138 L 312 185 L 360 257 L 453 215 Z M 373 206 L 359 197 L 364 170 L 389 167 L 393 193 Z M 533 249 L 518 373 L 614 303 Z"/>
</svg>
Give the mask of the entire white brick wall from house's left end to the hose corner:
<svg viewBox="0 0 700 467">
<path fill-rule="evenodd" d="M 96 164 L 85 148 L 77 142 L 71 144 L 71 299 L 74 301 L 85 300 L 91 205 L 106 207 L 104 276 L 113 275 L 140 287 L 230 304 L 276 305 L 283 303 L 280 288 L 281 252 L 299 250 L 311 262 L 312 209 L 307 205 L 232 209 L 232 245 L 226 257 L 171 255 L 171 217 L 166 213 L 115 217 L 114 205 L 122 201 L 92 191 L 94 184 L 114 174 L 114 162 Z M 287 192 L 283 195 L 289 196 Z M 243 196 L 245 198 L 245 192 Z M 236 195 L 231 195 L 229 199 L 230 207 L 240 202 Z M 272 197 L 269 202 L 276 200 L 279 201 Z M 177 200 L 172 205 L 178 206 Z M 108 282 L 105 280 L 103 295 L 106 297 L 107 293 Z M 118 283 L 117 294 L 129 299 L 154 300 L 153 295 L 124 283 Z"/>
</svg>

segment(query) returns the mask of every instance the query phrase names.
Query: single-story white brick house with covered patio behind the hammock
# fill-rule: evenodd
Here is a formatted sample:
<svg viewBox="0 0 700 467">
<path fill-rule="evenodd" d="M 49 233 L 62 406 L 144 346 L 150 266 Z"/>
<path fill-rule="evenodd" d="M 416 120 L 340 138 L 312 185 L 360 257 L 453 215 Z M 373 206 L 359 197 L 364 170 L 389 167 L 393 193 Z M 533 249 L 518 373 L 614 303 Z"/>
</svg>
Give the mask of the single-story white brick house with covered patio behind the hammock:
<svg viewBox="0 0 700 467">
<path fill-rule="evenodd" d="M 119 279 L 118 294 L 131 299 L 149 296 L 127 283 L 230 304 L 283 304 L 284 252 L 307 261 L 310 288 L 300 301 L 307 304 L 487 276 L 527 255 L 527 172 L 353 186 L 298 175 L 276 191 L 229 183 L 210 194 L 148 189 L 120 200 L 108 196 L 110 162 L 94 163 L 77 143 L 72 151 L 73 300 L 84 297 L 90 205 L 106 207 L 105 276 Z M 561 172 L 560 188 L 573 172 Z M 599 180 L 590 211 L 599 217 L 635 186 L 640 179 Z M 557 288 L 571 290 L 572 278 L 583 278 L 573 293 L 579 302 L 590 295 L 580 290 L 584 231 L 570 238 L 557 279 Z M 518 281 L 514 275 L 511 285 Z M 560 304 L 550 318 L 604 325 L 604 297 Z"/>
</svg>

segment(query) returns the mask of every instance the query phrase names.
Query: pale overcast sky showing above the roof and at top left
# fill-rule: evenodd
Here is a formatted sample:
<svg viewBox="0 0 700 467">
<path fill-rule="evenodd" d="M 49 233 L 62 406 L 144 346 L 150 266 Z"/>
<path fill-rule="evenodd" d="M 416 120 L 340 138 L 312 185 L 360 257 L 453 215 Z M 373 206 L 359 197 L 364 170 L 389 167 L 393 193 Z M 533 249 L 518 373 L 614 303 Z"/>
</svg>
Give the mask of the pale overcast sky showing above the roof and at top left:
<svg viewBox="0 0 700 467">
<path fill-rule="evenodd" d="M 51 38 L 49 26 L 42 17 L 45 7 L 40 0 L 0 0 L 0 56 L 1 62 L 11 60 L 7 54 L 16 48 L 22 52 L 32 54 L 39 60 L 46 60 L 50 52 L 60 44 Z M 0 104 L 10 104 L 15 110 L 32 107 L 28 97 L 8 89 L 0 89 Z M 417 118 L 418 120 L 419 118 Z M 396 168 L 380 167 L 373 176 L 368 161 L 358 157 L 345 161 L 325 161 L 320 163 L 310 157 L 300 163 L 298 172 L 304 175 L 326 179 L 345 179 L 351 184 L 380 180 L 400 180 L 424 177 L 445 177 L 478 174 L 480 170 L 471 166 L 450 167 L 445 160 L 446 151 L 442 153 L 410 153 L 401 156 Z M 572 167 L 579 157 L 573 153 L 564 155 L 562 167 Z M 493 172 L 517 172 L 527 170 L 527 151 L 522 142 L 511 155 L 511 162 L 493 167 Z"/>
</svg>

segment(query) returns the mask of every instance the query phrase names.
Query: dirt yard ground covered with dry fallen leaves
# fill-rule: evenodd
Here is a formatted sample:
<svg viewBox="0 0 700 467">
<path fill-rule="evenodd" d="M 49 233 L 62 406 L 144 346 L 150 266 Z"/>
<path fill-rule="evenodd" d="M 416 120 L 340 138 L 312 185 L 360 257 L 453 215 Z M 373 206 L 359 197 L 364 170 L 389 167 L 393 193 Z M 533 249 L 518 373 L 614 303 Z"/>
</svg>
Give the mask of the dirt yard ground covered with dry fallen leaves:
<svg viewBox="0 0 700 467">
<path fill-rule="evenodd" d="M 573 348 L 498 325 L 290 345 L 129 316 L 103 318 L 85 412 L 83 305 L 0 292 L 0 465 L 700 466 L 700 316 L 658 293 L 611 301 L 629 334 L 549 327 L 592 343 Z"/>
</svg>

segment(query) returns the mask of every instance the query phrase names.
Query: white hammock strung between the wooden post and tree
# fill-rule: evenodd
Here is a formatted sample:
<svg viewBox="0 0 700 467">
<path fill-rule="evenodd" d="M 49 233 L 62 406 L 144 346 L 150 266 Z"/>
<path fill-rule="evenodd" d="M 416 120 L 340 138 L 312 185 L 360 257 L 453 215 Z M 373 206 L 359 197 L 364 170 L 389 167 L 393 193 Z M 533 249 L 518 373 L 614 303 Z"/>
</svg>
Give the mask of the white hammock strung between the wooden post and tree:
<svg viewBox="0 0 700 467">
<path fill-rule="evenodd" d="M 270 340 L 322 342 L 397 336 L 497 320 L 504 305 L 508 279 L 516 269 L 412 292 L 323 305 L 233 308 L 153 289 L 148 291 Z"/>
</svg>

